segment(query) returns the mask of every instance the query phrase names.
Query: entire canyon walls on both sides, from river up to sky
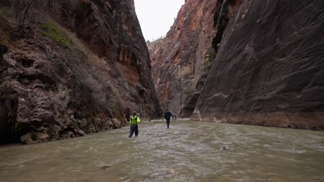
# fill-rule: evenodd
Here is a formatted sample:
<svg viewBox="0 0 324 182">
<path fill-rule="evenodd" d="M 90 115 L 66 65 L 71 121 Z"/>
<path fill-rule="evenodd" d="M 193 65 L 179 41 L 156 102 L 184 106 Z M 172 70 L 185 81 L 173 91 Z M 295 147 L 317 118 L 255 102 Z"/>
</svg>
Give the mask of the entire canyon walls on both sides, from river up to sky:
<svg viewBox="0 0 324 182">
<path fill-rule="evenodd" d="M 0 1 L 0 144 L 125 114 L 324 130 L 324 3 L 186 0 L 146 43 L 134 0 Z"/>
</svg>

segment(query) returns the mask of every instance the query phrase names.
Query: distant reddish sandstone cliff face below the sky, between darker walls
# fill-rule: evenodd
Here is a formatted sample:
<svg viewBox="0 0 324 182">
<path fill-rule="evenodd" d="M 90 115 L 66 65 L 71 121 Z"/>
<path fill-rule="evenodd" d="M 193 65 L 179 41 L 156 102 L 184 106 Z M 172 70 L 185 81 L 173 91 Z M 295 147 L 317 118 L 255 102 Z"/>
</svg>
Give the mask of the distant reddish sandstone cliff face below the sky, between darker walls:
<svg viewBox="0 0 324 182">
<path fill-rule="evenodd" d="M 163 108 L 179 113 L 188 95 L 200 89 L 197 83 L 213 57 L 215 4 L 186 1 L 165 39 L 149 45 L 152 78 Z"/>
</svg>

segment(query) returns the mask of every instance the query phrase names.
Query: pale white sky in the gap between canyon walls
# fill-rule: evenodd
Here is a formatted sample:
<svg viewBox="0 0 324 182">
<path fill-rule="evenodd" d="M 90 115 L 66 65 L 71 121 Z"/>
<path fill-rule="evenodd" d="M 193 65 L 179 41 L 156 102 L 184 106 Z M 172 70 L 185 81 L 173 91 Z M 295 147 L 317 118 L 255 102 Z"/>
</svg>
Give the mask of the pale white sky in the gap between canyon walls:
<svg viewBox="0 0 324 182">
<path fill-rule="evenodd" d="M 135 0 L 135 10 L 145 40 L 157 39 L 170 30 L 184 0 Z"/>
</svg>

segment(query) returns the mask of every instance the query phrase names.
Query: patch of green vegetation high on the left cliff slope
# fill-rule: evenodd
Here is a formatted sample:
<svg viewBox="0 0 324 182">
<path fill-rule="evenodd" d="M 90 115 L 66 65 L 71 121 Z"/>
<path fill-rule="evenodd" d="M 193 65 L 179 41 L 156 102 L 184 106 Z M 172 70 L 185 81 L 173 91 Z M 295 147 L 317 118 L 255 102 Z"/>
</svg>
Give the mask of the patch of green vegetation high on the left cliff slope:
<svg viewBox="0 0 324 182">
<path fill-rule="evenodd" d="M 71 44 L 73 44 L 60 27 L 54 23 L 40 23 L 39 28 L 42 28 L 42 35 L 44 37 L 53 39 L 57 43 L 60 43 L 60 45 L 65 45 L 67 48 L 70 48 Z"/>
</svg>

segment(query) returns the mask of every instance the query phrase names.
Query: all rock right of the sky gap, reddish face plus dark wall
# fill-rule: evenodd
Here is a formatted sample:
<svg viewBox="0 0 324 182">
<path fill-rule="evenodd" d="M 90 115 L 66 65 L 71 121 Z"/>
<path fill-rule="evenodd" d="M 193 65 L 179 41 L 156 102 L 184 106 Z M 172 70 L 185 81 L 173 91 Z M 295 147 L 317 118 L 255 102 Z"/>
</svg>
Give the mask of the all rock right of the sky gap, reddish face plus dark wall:
<svg viewBox="0 0 324 182">
<path fill-rule="evenodd" d="M 323 14 L 319 0 L 186 1 L 150 45 L 162 106 L 192 121 L 323 130 Z"/>
</svg>

